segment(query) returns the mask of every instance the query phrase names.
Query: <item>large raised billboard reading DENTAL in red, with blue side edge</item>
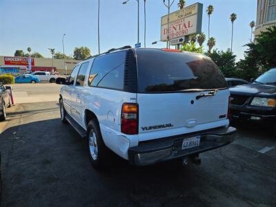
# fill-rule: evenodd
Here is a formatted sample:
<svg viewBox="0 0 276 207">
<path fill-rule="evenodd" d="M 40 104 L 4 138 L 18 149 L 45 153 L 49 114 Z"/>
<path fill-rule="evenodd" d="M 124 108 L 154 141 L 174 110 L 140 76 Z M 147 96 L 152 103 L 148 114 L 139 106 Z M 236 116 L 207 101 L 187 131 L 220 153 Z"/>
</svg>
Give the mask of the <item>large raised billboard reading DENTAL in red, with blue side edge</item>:
<svg viewBox="0 0 276 207">
<path fill-rule="evenodd" d="M 168 15 L 161 17 L 161 41 L 167 41 L 169 37 L 170 44 L 175 45 L 181 39 L 190 34 L 201 32 L 203 4 L 195 3 L 191 6 L 170 13 L 170 22 L 168 29 Z"/>
</svg>

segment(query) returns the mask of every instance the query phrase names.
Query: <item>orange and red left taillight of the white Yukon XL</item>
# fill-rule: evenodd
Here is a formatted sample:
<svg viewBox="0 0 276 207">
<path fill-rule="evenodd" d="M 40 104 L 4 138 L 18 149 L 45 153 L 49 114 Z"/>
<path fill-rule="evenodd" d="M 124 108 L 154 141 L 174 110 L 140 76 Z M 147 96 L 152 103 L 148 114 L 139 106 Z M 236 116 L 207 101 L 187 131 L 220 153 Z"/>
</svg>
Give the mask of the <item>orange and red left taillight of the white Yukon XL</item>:
<svg viewBox="0 0 276 207">
<path fill-rule="evenodd" d="M 126 135 L 138 134 L 137 103 L 124 103 L 121 107 L 121 132 Z"/>
</svg>

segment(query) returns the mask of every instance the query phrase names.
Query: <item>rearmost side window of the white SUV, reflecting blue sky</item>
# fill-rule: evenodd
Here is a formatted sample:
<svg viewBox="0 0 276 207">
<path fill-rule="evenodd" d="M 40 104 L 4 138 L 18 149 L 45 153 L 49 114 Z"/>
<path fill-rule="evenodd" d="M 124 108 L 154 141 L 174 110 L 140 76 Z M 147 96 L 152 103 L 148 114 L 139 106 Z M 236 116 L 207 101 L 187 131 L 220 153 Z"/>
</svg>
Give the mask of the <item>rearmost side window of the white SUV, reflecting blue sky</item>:
<svg viewBox="0 0 276 207">
<path fill-rule="evenodd" d="M 125 59 L 126 52 L 97 57 L 92 64 L 89 85 L 123 90 Z"/>
</svg>

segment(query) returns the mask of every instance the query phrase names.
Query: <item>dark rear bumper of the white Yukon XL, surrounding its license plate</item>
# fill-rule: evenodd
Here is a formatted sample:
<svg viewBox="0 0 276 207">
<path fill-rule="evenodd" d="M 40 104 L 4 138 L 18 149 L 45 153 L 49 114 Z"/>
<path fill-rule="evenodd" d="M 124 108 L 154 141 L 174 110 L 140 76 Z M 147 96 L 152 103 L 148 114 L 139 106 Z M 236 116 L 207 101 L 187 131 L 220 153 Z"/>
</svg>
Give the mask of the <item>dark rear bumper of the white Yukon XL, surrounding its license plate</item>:
<svg viewBox="0 0 276 207">
<path fill-rule="evenodd" d="M 233 127 L 221 127 L 212 130 L 204 130 L 188 135 L 178 135 L 143 141 L 139 146 L 129 148 L 128 159 L 130 164 L 146 166 L 160 161 L 168 161 L 179 157 L 191 157 L 201 152 L 213 150 L 226 144 L 230 144 L 235 139 L 236 129 Z M 181 149 L 185 138 L 201 136 L 200 144 L 194 148 Z"/>
</svg>

